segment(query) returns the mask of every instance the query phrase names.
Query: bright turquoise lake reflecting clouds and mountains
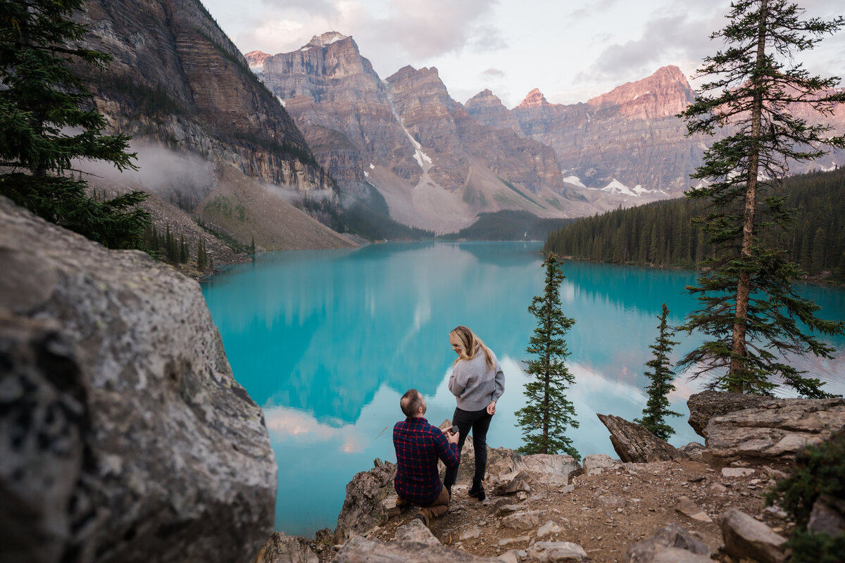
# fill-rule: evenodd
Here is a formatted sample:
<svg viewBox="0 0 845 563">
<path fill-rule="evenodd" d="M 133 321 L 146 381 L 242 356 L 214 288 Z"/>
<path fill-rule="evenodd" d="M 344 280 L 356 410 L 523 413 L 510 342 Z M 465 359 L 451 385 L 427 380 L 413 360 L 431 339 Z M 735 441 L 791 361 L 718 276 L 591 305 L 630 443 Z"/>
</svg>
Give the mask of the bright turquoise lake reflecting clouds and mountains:
<svg viewBox="0 0 845 563">
<path fill-rule="evenodd" d="M 499 356 L 505 392 L 488 433 L 492 447 L 519 447 L 514 411 L 527 381 L 521 362 L 542 292 L 540 243 L 390 243 L 344 251 L 275 252 L 204 282 L 235 378 L 264 409 L 279 465 L 276 529 L 312 536 L 335 528 L 346 483 L 380 457 L 395 462 L 391 429 L 401 394 L 417 387 L 434 425 L 451 418 L 446 387 L 455 354 L 449 332 L 472 328 Z M 663 302 L 677 325 L 695 307 L 695 273 L 564 263 L 564 313 L 575 318 L 567 365 L 581 455 L 616 457 L 597 413 L 631 420 L 645 404 L 644 364 Z M 822 317 L 845 319 L 845 291 L 803 286 Z M 673 360 L 698 338 L 679 334 Z M 837 359 L 793 362 L 845 392 L 845 338 Z M 686 423 L 686 398 L 704 382 L 680 374 L 668 422 L 675 446 L 702 441 Z"/>
</svg>

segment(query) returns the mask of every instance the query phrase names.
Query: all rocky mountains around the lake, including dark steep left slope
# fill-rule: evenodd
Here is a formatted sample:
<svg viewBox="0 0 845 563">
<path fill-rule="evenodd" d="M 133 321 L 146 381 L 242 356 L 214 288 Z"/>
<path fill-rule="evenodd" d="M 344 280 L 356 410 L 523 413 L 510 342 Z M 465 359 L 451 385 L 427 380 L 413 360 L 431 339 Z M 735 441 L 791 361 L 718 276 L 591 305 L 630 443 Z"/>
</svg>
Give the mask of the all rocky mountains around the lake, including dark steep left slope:
<svg viewBox="0 0 845 563">
<path fill-rule="evenodd" d="M 695 96 L 676 67 L 585 103 L 535 89 L 508 109 L 488 89 L 454 100 L 436 68 L 383 79 L 335 31 L 244 56 L 199 0 L 87 0 L 79 19 L 87 45 L 114 57 L 106 73 L 79 68 L 109 127 L 210 170 L 141 187 L 265 248 L 351 244 L 324 225 L 344 230 L 352 209 L 450 233 L 479 214 L 571 218 L 668 198 L 711 141 L 675 116 Z M 831 119 L 845 131 L 845 115 Z"/>
</svg>

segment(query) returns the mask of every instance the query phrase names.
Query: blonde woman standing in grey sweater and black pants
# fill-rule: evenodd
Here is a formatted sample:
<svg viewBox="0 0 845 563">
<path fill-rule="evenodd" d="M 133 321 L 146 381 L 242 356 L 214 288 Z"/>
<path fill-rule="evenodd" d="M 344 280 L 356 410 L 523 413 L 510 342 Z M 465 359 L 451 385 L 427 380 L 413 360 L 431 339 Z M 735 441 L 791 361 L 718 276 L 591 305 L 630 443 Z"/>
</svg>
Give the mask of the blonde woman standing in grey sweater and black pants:
<svg viewBox="0 0 845 563">
<path fill-rule="evenodd" d="M 457 425 L 461 432 L 458 452 L 463 449 L 466 435 L 472 429 L 476 468 L 469 495 L 483 501 L 486 498 L 482 480 L 487 470 L 487 430 L 496 413 L 496 401 L 504 392 L 504 372 L 493 350 L 485 346 L 469 328 L 455 328 L 449 333 L 449 341 L 458 355 L 449 378 L 449 390 L 458 403 L 452 424 Z M 443 485 L 449 490 L 450 496 L 457 476 L 457 468 L 446 470 Z"/>
</svg>

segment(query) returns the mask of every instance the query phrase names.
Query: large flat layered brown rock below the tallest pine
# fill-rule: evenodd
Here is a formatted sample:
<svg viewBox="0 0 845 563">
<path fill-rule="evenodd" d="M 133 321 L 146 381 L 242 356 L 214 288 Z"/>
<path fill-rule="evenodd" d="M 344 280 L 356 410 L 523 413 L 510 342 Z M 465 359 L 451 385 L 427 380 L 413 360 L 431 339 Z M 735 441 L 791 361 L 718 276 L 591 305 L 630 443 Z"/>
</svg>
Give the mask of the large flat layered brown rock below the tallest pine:
<svg viewBox="0 0 845 563">
<path fill-rule="evenodd" d="M 716 465 L 785 462 L 843 430 L 845 398 L 770 399 L 711 419 L 702 458 Z"/>
</svg>

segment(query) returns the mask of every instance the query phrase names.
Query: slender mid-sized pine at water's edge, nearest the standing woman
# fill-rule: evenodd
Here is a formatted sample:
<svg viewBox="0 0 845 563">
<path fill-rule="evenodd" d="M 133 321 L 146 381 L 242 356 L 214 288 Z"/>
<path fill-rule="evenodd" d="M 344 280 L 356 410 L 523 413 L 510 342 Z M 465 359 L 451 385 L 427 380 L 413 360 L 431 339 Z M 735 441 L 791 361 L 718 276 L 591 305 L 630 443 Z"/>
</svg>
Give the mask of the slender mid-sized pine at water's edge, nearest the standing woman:
<svg viewBox="0 0 845 563">
<path fill-rule="evenodd" d="M 559 260 L 549 254 L 542 265 L 546 268 L 543 295 L 535 295 L 528 311 L 537 317 L 537 328 L 526 348 L 537 360 L 528 360 L 528 374 L 533 380 L 525 387 L 526 406 L 516 411 L 525 445 L 522 454 L 564 452 L 581 459 L 570 438 L 564 435 L 567 426 L 578 428 L 575 405 L 565 391 L 575 378 L 564 365 L 570 355 L 564 335 L 575 324 L 560 310 L 560 284 L 564 274 Z"/>
</svg>

